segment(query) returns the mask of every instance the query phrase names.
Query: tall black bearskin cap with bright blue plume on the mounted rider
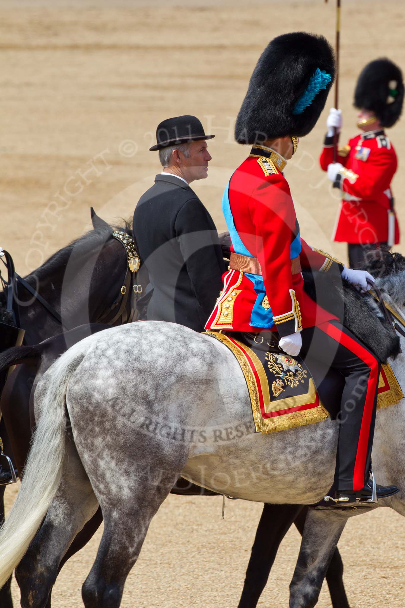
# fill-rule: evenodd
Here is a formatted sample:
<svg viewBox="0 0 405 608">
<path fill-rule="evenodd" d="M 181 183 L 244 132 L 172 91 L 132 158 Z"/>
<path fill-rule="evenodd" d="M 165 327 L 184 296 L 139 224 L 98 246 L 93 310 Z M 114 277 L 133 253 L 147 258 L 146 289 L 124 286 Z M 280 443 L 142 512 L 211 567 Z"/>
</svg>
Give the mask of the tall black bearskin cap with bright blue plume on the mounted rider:
<svg viewBox="0 0 405 608">
<path fill-rule="evenodd" d="M 251 75 L 236 119 L 236 141 L 307 135 L 324 109 L 335 71 L 324 36 L 293 32 L 274 38 Z"/>
</svg>

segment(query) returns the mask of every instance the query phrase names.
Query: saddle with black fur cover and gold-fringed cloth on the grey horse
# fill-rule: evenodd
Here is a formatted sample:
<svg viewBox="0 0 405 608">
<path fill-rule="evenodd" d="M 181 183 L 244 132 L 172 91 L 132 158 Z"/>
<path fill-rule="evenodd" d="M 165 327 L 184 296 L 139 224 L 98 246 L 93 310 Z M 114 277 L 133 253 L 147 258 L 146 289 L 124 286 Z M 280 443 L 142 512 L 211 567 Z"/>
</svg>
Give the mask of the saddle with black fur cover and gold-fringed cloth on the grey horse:
<svg viewBox="0 0 405 608">
<path fill-rule="evenodd" d="M 375 353 L 381 362 L 377 408 L 403 399 L 403 392 L 386 362 L 399 352 L 399 339 L 383 317 L 376 316 L 367 301 L 341 280 L 333 280 L 316 290 L 317 277 L 307 277 L 307 292 L 321 306 L 343 317 L 343 323 Z M 327 289 L 325 289 L 327 287 Z M 319 295 L 321 302 L 319 302 Z M 256 432 L 273 433 L 305 424 L 335 418 L 340 409 L 344 378 L 337 371 L 322 370 L 318 361 L 291 357 L 278 347 L 279 335 L 206 332 L 228 347 L 236 356 L 247 382 Z"/>
</svg>

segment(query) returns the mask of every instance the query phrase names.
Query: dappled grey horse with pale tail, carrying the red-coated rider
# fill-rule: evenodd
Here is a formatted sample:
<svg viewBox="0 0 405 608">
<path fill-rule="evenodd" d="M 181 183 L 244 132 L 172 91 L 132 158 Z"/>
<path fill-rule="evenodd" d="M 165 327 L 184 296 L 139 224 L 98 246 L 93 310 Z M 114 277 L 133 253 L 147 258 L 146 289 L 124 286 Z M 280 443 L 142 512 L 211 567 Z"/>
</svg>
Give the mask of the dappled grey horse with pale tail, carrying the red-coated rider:
<svg viewBox="0 0 405 608">
<path fill-rule="evenodd" d="M 404 272 L 394 287 L 387 300 L 405 322 Z M 404 388 L 405 354 L 391 363 Z M 74 444 L 66 435 L 66 409 Z M 228 496 L 268 503 L 315 503 L 333 482 L 338 421 L 254 434 L 236 358 L 212 337 L 171 323 L 132 323 L 74 345 L 39 382 L 35 415 L 24 480 L 0 533 L 0 584 L 25 554 L 16 571 L 23 608 L 46 605 L 63 554 L 98 505 L 104 533 L 83 601 L 86 608 L 115 608 L 149 523 L 180 474 Z M 230 439 L 216 441 L 226 428 L 234 429 Z M 401 489 L 379 505 L 403 514 L 404 431 L 404 399 L 379 410 L 373 468 L 380 483 Z M 310 510 L 291 608 L 315 605 L 352 513 Z"/>
</svg>

